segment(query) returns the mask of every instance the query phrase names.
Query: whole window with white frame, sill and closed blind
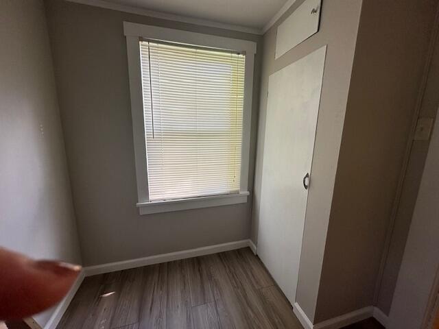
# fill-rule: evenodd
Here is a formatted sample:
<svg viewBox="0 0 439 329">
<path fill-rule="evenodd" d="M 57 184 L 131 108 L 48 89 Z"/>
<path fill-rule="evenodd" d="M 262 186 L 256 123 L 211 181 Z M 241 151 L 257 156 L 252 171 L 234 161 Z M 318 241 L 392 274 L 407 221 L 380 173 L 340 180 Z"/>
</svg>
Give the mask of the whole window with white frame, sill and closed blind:
<svg viewBox="0 0 439 329">
<path fill-rule="evenodd" d="M 254 42 L 124 30 L 141 214 L 246 202 Z"/>
</svg>

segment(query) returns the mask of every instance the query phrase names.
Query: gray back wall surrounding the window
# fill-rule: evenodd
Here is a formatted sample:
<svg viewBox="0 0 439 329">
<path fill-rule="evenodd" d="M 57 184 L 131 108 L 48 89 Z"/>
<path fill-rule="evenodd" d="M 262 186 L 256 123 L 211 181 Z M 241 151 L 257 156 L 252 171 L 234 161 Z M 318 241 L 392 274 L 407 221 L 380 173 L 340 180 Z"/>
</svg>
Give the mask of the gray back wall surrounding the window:
<svg viewBox="0 0 439 329">
<path fill-rule="evenodd" d="M 85 265 L 248 239 L 247 204 L 139 215 L 123 21 L 243 38 L 261 36 L 46 1 L 73 200 Z M 259 56 L 255 66 L 260 66 Z M 254 77 L 254 159 L 259 71 Z M 254 160 L 249 177 L 253 177 Z M 252 180 L 250 180 L 250 192 Z"/>
</svg>

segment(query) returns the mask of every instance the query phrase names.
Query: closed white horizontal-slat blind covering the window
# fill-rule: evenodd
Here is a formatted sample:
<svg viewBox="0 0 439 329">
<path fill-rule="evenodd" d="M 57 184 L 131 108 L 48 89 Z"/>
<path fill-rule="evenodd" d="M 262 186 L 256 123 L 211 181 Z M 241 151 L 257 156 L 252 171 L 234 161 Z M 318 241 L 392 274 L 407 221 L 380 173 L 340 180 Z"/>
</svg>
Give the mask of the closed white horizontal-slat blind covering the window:
<svg viewBox="0 0 439 329">
<path fill-rule="evenodd" d="M 140 41 L 150 202 L 238 193 L 245 55 Z"/>
</svg>

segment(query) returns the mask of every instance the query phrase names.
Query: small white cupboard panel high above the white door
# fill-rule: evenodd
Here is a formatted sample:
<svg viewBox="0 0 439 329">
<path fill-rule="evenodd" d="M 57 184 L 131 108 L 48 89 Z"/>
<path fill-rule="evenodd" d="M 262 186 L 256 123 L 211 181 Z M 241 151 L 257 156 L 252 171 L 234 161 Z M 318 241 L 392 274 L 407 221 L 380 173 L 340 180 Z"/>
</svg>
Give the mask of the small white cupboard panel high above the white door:
<svg viewBox="0 0 439 329">
<path fill-rule="evenodd" d="M 306 0 L 277 27 L 274 58 L 281 57 L 289 49 L 318 32 L 320 8 L 322 0 Z"/>
</svg>

